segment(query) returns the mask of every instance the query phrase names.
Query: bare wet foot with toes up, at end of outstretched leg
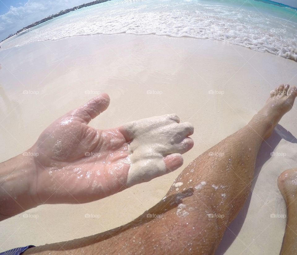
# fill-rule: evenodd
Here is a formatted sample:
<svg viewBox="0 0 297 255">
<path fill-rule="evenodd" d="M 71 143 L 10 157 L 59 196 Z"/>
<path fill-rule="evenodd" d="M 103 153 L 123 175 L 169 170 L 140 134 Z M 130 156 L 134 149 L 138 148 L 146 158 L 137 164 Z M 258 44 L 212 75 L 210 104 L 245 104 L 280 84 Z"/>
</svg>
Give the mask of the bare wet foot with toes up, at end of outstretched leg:
<svg viewBox="0 0 297 255">
<path fill-rule="evenodd" d="M 263 137 L 264 139 L 272 134 L 274 127 L 282 116 L 293 107 L 297 96 L 297 88 L 293 86 L 289 89 L 289 87 L 289 84 L 282 84 L 271 91 L 264 107 L 252 118 L 251 122 L 265 121 L 267 123 L 267 132 Z"/>
</svg>

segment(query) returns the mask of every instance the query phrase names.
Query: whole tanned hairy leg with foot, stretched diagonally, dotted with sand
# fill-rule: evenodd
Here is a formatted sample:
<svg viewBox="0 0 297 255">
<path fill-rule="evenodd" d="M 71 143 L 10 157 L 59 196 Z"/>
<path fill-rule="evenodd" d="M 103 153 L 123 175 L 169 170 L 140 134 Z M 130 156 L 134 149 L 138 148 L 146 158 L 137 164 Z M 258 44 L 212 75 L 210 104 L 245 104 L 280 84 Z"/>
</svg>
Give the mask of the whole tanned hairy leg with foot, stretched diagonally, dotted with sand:
<svg viewBox="0 0 297 255">
<path fill-rule="evenodd" d="M 297 88 L 288 88 L 279 86 L 248 125 L 194 159 L 166 197 L 133 222 L 24 254 L 214 254 L 248 197 L 261 143 L 293 106 Z"/>
</svg>

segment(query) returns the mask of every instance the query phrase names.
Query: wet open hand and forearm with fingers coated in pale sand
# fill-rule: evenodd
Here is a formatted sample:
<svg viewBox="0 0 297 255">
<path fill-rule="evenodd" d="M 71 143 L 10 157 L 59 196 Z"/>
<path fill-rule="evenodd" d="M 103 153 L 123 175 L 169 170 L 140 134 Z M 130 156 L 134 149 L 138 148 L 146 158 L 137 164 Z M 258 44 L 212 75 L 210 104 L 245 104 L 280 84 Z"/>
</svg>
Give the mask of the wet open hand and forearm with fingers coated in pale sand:
<svg viewBox="0 0 297 255">
<path fill-rule="evenodd" d="M 101 94 L 66 113 L 0 165 L 0 219 L 45 203 L 92 202 L 183 164 L 193 146 L 190 123 L 167 114 L 109 130 L 89 126 L 109 101 Z"/>
</svg>

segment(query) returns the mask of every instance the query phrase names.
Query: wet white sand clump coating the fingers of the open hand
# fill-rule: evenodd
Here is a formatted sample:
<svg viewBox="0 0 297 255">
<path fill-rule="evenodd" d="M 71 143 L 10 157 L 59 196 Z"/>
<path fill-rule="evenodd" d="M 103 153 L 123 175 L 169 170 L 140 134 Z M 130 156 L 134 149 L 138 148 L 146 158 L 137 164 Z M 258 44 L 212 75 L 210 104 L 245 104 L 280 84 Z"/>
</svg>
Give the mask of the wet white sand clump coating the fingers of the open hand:
<svg viewBox="0 0 297 255">
<path fill-rule="evenodd" d="M 185 130 L 194 130 L 189 122 L 183 122 L 181 126 L 176 123 L 176 120 L 178 120 L 176 115 L 166 114 L 131 121 L 123 125 L 123 129 L 133 139 L 128 145 L 130 155 L 126 162 L 124 161 L 131 164 L 127 176 L 127 187 L 150 181 L 167 173 L 164 157 L 179 146 L 180 137 L 176 135 L 177 132 L 183 134 L 187 132 Z M 191 139 L 187 139 L 183 146 L 189 148 L 190 142 L 192 144 Z M 171 154 L 170 157 L 181 159 L 179 153 Z M 176 183 L 175 187 L 179 187 L 178 185 L 181 186 L 183 183 Z"/>
</svg>

